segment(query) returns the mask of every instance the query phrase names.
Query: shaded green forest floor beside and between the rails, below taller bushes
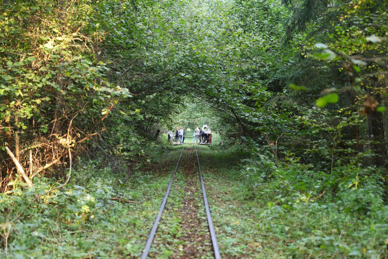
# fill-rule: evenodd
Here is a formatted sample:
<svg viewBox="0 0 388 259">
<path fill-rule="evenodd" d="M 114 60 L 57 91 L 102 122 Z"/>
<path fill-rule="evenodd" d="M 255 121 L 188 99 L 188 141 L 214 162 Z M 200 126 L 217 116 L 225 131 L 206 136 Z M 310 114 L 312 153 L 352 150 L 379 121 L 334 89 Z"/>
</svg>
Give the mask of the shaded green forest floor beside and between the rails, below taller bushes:
<svg viewBox="0 0 388 259">
<path fill-rule="evenodd" d="M 82 176 L 96 168 L 90 162 L 78 166 L 68 189 L 49 202 L 40 202 L 17 223 L 17 235 L 11 233 L 8 240 L 8 256 L 140 257 L 181 148 L 171 146 L 160 152 L 145 172 L 129 181 L 103 168 L 97 177 L 80 184 Z M 327 206 L 330 203 L 296 203 L 289 212 L 283 211 L 270 203 L 276 200 L 271 196 L 274 190 L 261 190 L 262 196 L 252 198 L 240 162 L 249 156 L 247 152 L 199 146 L 198 153 L 223 258 L 334 258 L 351 255 L 349 251 L 355 251 L 353 256 L 364 251 L 368 257 L 363 247 L 383 247 L 375 254 L 387 258 L 385 222 L 373 225 L 376 232 L 363 232 L 361 228 L 369 229 L 367 219 L 335 214 L 335 208 Z M 149 255 L 213 258 L 192 145 L 185 147 Z M 4 251 L 0 257 L 5 257 Z"/>
</svg>

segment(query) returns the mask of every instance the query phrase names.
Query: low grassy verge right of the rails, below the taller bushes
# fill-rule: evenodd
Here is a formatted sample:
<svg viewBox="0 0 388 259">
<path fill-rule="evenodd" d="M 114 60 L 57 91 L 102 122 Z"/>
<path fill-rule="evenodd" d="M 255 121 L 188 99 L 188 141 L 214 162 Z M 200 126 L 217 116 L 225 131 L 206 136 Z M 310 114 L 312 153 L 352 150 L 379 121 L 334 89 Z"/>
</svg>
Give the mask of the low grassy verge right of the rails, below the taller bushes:
<svg viewBox="0 0 388 259">
<path fill-rule="evenodd" d="M 246 154 L 216 148 L 200 147 L 199 156 L 223 257 L 388 257 L 387 206 L 377 200 L 377 207 L 372 207 L 370 199 L 379 198 L 369 193 L 367 183 L 349 189 L 345 198 L 326 193 L 313 200 L 288 183 L 287 175 L 294 173 L 301 179 L 301 172 L 290 167 L 283 178 L 262 182 L 245 178 L 242 169 L 247 165 L 239 165 L 239 159 Z M 264 167 L 257 170 L 265 172 Z M 252 186 L 257 187 L 254 195 Z M 352 195 L 359 207 L 369 202 L 369 212 L 344 210 Z"/>
</svg>

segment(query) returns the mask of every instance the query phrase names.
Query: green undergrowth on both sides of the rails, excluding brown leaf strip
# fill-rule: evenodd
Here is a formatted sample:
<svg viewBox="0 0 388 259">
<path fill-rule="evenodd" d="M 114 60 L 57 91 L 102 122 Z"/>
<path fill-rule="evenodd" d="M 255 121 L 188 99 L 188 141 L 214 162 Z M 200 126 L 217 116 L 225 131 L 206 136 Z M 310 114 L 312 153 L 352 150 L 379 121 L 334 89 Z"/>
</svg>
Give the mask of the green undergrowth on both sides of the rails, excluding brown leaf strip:
<svg viewBox="0 0 388 259">
<path fill-rule="evenodd" d="M 10 222 L 55 185 L 46 178 L 33 188 L 15 184 L 0 198 L 0 257 L 139 257 L 180 149 L 161 147 L 129 177 L 81 159 L 66 188 Z M 199 146 L 198 152 L 223 257 L 387 258 L 388 206 L 375 167 L 335 166 L 330 174 L 241 152 L 240 144 Z M 179 254 L 174 249 L 185 234 L 177 215 L 180 185 L 178 170 L 165 214 L 174 217 L 163 217 L 151 251 L 161 258 Z"/>
</svg>

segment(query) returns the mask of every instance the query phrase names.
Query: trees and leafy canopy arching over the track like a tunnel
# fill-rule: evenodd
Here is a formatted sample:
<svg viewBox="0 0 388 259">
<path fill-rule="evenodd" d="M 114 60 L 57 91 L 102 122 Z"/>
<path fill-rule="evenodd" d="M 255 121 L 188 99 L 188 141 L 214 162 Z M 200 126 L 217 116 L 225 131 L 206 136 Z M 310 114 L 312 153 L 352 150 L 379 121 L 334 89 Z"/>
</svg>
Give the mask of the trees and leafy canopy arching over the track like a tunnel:
<svg viewBox="0 0 388 259">
<path fill-rule="evenodd" d="M 17 170 L 6 145 L 32 174 L 96 134 L 125 158 L 142 156 L 185 96 L 212 105 L 224 134 L 265 145 L 281 138 L 293 156 L 318 159 L 324 170 L 336 159 L 384 166 L 385 7 L 4 1 L 2 186 Z"/>
</svg>

